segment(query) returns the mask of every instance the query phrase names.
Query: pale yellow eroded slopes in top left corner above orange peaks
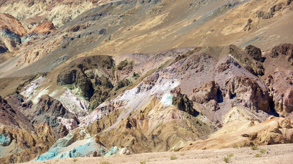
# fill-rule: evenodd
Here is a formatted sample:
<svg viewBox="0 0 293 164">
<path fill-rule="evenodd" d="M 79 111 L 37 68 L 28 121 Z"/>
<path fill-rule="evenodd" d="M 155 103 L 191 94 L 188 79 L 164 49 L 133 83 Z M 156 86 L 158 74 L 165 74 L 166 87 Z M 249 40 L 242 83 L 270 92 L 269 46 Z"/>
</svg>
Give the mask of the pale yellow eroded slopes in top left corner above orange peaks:
<svg viewBox="0 0 293 164">
<path fill-rule="evenodd" d="M 96 7 L 100 4 L 107 3 L 111 0 L 91 0 L 80 2 L 76 0 L 59 0 L 59 1 L 1 1 L 1 13 L 11 13 L 15 18 L 25 24 L 26 29 L 33 29 L 44 20 L 51 21 L 59 28 L 67 22 L 74 19 L 79 14 Z M 19 10 L 22 8 L 22 10 Z"/>
</svg>

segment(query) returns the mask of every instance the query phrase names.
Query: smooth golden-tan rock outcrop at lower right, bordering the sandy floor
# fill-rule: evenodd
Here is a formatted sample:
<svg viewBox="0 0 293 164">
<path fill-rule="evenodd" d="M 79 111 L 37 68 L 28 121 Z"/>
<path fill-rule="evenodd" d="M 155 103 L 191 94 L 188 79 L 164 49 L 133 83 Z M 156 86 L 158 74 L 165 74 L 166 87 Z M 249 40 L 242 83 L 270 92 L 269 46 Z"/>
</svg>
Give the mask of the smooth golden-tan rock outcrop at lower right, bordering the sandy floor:
<svg viewBox="0 0 293 164">
<path fill-rule="evenodd" d="M 237 125 L 237 121 L 230 123 L 223 130 L 215 133 L 203 142 L 191 143 L 178 149 L 220 149 L 232 147 L 235 144 L 241 146 L 270 145 L 292 143 L 293 128 L 289 118 L 272 118 L 257 125 L 253 121 L 242 123 L 239 130 L 231 130 Z M 239 124 L 238 124 L 239 125 Z M 229 131 L 229 128 L 230 131 Z"/>
</svg>

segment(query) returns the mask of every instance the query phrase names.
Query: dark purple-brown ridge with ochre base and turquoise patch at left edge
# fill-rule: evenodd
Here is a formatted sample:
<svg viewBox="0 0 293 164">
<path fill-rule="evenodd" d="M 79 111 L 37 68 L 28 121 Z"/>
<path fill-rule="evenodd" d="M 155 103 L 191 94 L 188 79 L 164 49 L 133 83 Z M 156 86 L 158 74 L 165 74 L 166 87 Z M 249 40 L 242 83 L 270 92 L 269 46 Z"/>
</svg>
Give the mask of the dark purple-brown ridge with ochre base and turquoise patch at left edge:
<svg viewBox="0 0 293 164">
<path fill-rule="evenodd" d="M 8 104 L 0 96 L 1 163 L 26 162 L 50 146 L 45 140 L 41 143 L 32 123 L 17 107 L 18 104 Z M 43 137 L 45 139 L 45 135 Z"/>
</svg>

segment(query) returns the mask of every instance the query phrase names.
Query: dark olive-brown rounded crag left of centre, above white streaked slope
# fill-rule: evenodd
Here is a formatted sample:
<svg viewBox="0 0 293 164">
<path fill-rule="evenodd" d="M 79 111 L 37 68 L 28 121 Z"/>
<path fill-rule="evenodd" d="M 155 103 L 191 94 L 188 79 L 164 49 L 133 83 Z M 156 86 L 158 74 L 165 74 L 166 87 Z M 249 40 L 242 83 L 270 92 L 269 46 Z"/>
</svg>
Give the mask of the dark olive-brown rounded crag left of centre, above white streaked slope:
<svg viewBox="0 0 293 164">
<path fill-rule="evenodd" d="M 92 111 L 110 96 L 113 80 L 113 59 L 100 55 L 78 58 L 70 62 L 58 75 L 57 84 L 70 85 L 68 87 L 74 90 L 76 95 L 86 97 L 90 101 Z M 123 86 L 118 83 L 118 87 Z"/>
</svg>

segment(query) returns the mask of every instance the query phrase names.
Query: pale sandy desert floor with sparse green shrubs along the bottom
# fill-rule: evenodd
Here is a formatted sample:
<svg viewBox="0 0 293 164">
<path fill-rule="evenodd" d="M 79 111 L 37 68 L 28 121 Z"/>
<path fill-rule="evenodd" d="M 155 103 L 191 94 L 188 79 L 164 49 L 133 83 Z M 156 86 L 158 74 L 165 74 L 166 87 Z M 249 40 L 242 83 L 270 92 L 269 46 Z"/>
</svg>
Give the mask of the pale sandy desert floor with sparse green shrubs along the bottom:
<svg viewBox="0 0 293 164">
<path fill-rule="evenodd" d="M 266 149 L 265 153 L 260 153 L 260 149 Z M 159 153 L 141 153 L 128 156 L 115 157 L 87 157 L 87 158 L 65 158 L 53 159 L 41 162 L 28 163 L 45 163 L 45 164 L 101 164 L 107 161 L 110 164 L 139 164 L 145 161 L 145 164 L 192 164 L 192 163 L 225 163 L 223 158 L 232 153 L 229 163 L 293 163 L 293 144 L 276 144 L 267 146 L 258 146 L 258 150 L 252 150 L 251 147 L 227 148 L 227 149 L 209 149 L 209 150 L 192 150 L 177 152 L 159 152 Z M 255 154 L 261 157 L 256 158 Z M 177 157 L 171 160 L 171 156 Z"/>
</svg>

